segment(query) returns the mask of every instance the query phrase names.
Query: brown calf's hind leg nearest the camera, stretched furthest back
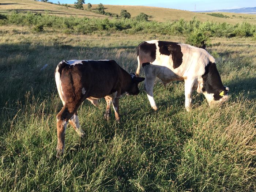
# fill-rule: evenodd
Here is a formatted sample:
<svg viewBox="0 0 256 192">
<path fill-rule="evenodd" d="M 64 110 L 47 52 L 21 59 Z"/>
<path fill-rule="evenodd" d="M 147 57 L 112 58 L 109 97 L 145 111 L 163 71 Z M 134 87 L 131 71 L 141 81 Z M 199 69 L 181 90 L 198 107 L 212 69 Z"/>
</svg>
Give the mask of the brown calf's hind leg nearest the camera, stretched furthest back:
<svg viewBox="0 0 256 192">
<path fill-rule="evenodd" d="M 56 157 L 60 157 L 60 155 L 64 152 L 65 148 L 65 132 L 67 128 L 68 120 L 74 115 L 76 112 L 76 108 L 73 105 L 69 105 L 69 103 L 65 103 L 64 107 L 57 114 L 57 154 Z"/>
</svg>

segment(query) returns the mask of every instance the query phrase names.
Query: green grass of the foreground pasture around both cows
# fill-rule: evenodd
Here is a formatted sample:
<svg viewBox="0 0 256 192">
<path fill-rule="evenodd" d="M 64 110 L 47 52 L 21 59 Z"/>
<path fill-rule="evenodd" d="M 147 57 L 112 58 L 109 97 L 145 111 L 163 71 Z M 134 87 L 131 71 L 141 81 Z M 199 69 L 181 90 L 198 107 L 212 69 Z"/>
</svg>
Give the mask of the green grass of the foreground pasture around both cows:
<svg viewBox="0 0 256 192">
<path fill-rule="evenodd" d="M 120 99 L 121 123 L 103 120 L 85 101 L 78 116 L 86 137 L 68 125 L 64 155 L 56 159 L 56 114 L 61 109 L 54 69 L 66 59 L 115 59 L 137 67 L 136 46 L 152 38 L 124 33 L 74 35 L 0 26 L 1 191 L 255 191 L 256 42 L 214 38 L 208 48 L 230 99 L 209 108 L 194 93 L 184 109 L 184 83 L 154 88 L 154 112 L 143 84 L 138 96 Z M 40 70 L 48 64 L 44 70 Z M 142 76 L 144 74 L 142 73 Z M 112 110 L 113 112 L 113 110 Z"/>
</svg>

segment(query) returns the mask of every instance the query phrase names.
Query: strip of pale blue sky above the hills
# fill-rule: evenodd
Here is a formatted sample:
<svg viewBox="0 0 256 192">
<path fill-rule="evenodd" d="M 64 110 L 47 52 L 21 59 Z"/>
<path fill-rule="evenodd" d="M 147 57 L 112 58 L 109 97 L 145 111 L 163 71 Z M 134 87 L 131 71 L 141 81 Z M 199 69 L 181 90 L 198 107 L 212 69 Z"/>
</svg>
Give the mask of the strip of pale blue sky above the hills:
<svg viewBox="0 0 256 192">
<path fill-rule="evenodd" d="M 53 3 L 68 3 L 73 4 L 77 0 L 49 0 Z M 187 11 L 207 11 L 207 10 L 221 10 L 221 9 L 235 9 L 243 7 L 256 7 L 256 0 L 84 0 L 84 2 L 91 4 L 103 5 L 144 5 L 153 7 L 165 7 Z"/>
</svg>

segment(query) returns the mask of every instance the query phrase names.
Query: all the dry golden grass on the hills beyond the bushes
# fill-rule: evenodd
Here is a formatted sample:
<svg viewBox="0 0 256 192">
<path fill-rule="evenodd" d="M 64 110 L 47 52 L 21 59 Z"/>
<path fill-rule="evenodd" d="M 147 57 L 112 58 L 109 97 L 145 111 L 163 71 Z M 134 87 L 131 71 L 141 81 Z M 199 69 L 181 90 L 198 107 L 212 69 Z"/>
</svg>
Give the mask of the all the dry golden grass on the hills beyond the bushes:
<svg viewBox="0 0 256 192">
<path fill-rule="evenodd" d="M 86 2 L 87 3 L 87 2 Z M 93 3 L 93 2 L 91 2 Z M 94 10 L 98 5 L 93 4 L 92 9 Z M 132 17 L 137 16 L 140 12 L 144 12 L 147 15 L 152 15 L 153 18 L 150 20 L 155 20 L 159 22 L 166 22 L 166 21 L 175 21 L 181 18 L 185 20 L 191 20 L 193 16 L 196 16 L 202 22 L 207 20 L 219 22 L 219 23 L 242 23 L 248 22 L 252 24 L 256 24 L 256 15 L 255 14 L 233 14 L 233 13 L 223 13 L 230 18 L 218 18 L 202 13 L 195 13 L 190 11 L 183 11 L 183 10 L 175 10 L 175 9 L 168 9 L 168 8 L 159 8 L 159 7 L 147 7 L 147 6 L 129 6 L 129 5 L 104 5 L 106 8 L 105 11 L 116 13 L 120 15 L 120 11 L 122 9 L 127 10 L 131 13 Z M 84 9 L 87 9 L 87 4 L 84 4 Z M 91 11 L 86 10 L 78 10 L 71 7 L 64 7 L 60 5 L 50 4 L 50 3 L 42 3 L 34 0 L 1 0 L 0 5 L 0 13 L 8 13 L 12 10 L 16 10 L 18 12 L 39 12 L 43 13 L 45 10 L 48 10 L 49 14 L 56 15 L 56 16 L 78 16 L 78 17 L 88 17 L 88 18 L 109 18 L 105 15 L 95 14 Z"/>
</svg>

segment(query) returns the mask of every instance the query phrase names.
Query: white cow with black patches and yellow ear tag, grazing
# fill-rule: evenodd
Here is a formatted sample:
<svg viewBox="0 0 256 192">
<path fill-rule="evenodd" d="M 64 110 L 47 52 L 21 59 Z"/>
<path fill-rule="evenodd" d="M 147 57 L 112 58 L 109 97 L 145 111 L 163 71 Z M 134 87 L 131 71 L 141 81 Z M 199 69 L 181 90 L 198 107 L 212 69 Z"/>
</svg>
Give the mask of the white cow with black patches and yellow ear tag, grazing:
<svg viewBox="0 0 256 192">
<path fill-rule="evenodd" d="M 150 105 L 157 110 L 153 98 L 155 78 L 164 86 L 174 80 L 185 82 L 185 109 L 191 109 L 192 92 L 203 93 L 209 105 L 228 99 L 229 88 L 223 86 L 215 59 L 204 49 L 168 41 L 144 41 L 137 48 L 138 68 L 142 65 L 146 79 L 144 86 Z"/>
</svg>

